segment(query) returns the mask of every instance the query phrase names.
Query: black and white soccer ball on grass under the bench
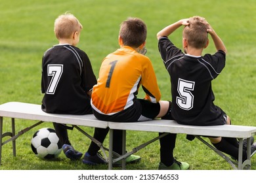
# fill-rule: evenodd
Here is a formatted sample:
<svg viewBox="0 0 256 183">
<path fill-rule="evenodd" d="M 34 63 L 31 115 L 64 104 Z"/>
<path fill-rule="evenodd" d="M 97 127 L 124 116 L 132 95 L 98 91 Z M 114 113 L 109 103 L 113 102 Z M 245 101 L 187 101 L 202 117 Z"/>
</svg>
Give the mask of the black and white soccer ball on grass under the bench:
<svg viewBox="0 0 256 183">
<path fill-rule="evenodd" d="M 62 147 L 54 129 L 44 127 L 35 132 L 31 141 L 33 153 L 41 159 L 57 158 Z"/>
</svg>

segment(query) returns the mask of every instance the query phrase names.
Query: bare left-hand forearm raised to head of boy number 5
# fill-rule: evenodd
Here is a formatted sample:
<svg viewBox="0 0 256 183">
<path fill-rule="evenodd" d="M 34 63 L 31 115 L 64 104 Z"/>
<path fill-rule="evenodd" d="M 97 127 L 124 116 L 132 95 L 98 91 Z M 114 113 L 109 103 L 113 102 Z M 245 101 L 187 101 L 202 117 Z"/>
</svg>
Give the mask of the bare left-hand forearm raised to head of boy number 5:
<svg viewBox="0 0 256 183">
<path fill-rule="evenodd" d="M 158 32 L 158 34 L 156 35 L 156 37 L 158 39 L 160 39 L 160 37 L 168 37 L 169 35 L 171 35 L 171 33 L 173 33 L 176 29 L 178 29 L 179 27 L 181 27 L 181 25 L 187 26 L 189 25 L 188 23 L 188 18 L 186 19 L 182 19 L 179 20 L 171 25 L 168 25 L 167 27 L 163 28 L 161 31 Z"/>
</svg>

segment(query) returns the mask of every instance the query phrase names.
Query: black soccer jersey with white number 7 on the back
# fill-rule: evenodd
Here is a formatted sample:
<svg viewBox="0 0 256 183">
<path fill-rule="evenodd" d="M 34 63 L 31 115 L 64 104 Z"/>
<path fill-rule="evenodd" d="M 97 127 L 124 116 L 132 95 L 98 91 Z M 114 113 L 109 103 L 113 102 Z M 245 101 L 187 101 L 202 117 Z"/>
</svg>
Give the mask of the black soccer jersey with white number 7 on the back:
<svg viewBox="0 0 256 183">
<path fill-rule="evenodd" d="M 96 84 L 91 62 L 82 50 L 58 44 L 42 59 L 42 110 L 57 114 L 91 114 L 87 92 Z"/>
</svg>

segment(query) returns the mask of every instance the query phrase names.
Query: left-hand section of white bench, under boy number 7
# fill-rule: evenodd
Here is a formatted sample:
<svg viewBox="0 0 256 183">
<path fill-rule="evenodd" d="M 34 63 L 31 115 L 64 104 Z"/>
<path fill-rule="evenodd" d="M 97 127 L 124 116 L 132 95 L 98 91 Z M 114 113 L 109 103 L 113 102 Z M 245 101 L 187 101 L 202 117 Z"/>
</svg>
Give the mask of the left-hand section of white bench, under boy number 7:
<svg viewBox="0 0 256 183">
<path fill-rule="evenodd" d="M 3 117 L 12 118 L 12 131 L 8 131 L 3 133 Z M 36 120 L 35 124 L 22 129 L 17 134 L 15 132 L 15 118 L 25 119 L 25 120 Z M 102 143 L 98 142 L 96 139 L 91 137 L 88 133 L 83 131 L 80 126 L 87 127 L 100 127 L 106 128 L 108 127 L 108 122 L 100 121 L 95 118 L 93 114 L 87 115 L 70 115 L 70 114 L 49 114 L 43 112 L 41 110 L 41 105 L 35 105 L 31 103 L 20 103 L 20 102 L 9 102 L 0 105 L 0 165 L 1 165 L 1 157 L 2 157 L 2 146 L 7 142 L 12 141 L 12 154 L 16 156 L 16 139 L 20 137 L 20 135 L 26 133 L 26 131 L 32 129 L 33 127 L 43 123 L 43 122 L 56 122 L 58 124 L 70 124 L 73 125 L 76 129 L 81 131 L 84 135 L 89 137 L 91 141 L 94 141 L 102 151 L 108 150 L 102 146 Z M 10 137 L 7 141 L 3 142 L 3 137 Z M 106 158 L 106 154 L 104 152 L 104 156 Z"/>
</svg>

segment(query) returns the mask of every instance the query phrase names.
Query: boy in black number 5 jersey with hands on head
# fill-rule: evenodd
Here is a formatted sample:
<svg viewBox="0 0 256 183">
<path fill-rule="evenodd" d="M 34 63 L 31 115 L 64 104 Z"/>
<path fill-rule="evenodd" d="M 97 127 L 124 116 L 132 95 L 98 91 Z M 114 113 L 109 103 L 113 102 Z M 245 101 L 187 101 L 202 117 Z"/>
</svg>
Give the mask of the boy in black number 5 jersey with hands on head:
<svg viewBox="0 0 256 183">
<path fill-rule="evenodd" d="M 168 36 L 184 25 L 182 50 L 177 48 Z M 217 52 L 202 56 L 211 35 Z M 213 101 L 215 96 L 211 80 L 215 79 L 225 65 L 226 47 L 211 25 L 200 17 L 179 20 L 168 25 L 157 34 L 158 47 L 165 68 L 171 76 L 171 117 L 185 125 L 231 124 L 225 112 Z M 217 149 L 238 159 L 238 141 L 234 138 L 209 137 Z M 251 156 L 256 152 L 256 143 L 251 145 Z M 246 149 L 243 161 L 247 159 Z"/>
</svg>

